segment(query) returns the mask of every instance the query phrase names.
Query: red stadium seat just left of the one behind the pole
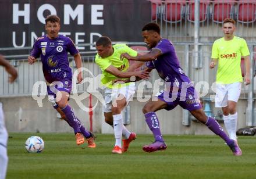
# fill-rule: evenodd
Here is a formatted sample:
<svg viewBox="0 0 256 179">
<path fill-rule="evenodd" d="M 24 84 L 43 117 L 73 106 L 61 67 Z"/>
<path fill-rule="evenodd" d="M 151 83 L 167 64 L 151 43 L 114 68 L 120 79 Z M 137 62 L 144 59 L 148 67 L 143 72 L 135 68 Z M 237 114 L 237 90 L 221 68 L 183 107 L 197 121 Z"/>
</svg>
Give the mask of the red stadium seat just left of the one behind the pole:
<svg viewBox="0 0 256 179">
<path fill-rule="evenodd" d="M 170 23 L 182 21 L 186 9 L 185 5 L 186 0 L 166 0 L 163 20 Z"/>
</svg>

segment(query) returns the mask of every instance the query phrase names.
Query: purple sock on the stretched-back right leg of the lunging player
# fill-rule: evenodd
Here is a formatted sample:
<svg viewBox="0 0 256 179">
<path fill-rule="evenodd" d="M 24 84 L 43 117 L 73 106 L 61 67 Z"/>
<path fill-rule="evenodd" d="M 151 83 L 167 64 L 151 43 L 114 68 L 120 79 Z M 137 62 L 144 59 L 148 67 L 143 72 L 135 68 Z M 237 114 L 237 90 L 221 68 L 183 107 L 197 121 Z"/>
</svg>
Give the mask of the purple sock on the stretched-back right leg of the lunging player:
<svg viewBox="0 0 256 179">
<path fill-rule="evenodd" d="M 227 143 L 227 145 L 233 144 L 233 140 L 227 136 L 221 125 L 219 125 L 219 123 L 215 119 L 213 119 L 212 117 L 208 117 L 208 120 L 205 123 L 205 125 L 212 132 L 214 132 L 214 134 L 219 135 L 219 137 L 221 137 Z"/>
</svg>

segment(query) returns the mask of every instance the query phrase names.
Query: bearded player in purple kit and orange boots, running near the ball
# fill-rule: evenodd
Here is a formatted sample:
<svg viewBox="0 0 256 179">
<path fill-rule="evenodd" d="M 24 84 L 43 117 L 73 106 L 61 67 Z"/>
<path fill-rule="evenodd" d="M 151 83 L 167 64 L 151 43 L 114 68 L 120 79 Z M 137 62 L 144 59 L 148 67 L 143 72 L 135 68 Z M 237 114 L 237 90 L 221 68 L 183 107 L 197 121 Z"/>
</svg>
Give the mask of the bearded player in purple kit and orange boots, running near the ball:
<svg viewBox="0 0 256 179">
<path fill-rule="evenodd" d="M 67 52 L 74 56 L 77 69 L 81 67 L 81 56 L 69 37 L 59 35 L 61 28 L 59 22 L 60 19 L 56 15 L 49 15 L 45 19 L 47 34 L 37 38 L 28 61 L 30 65 L 33 65 L 36 59 L 41 57 L 49 100 L 74 129 L 77 145 L 83 144 L 84 137 L 86 137 L 88 147 L 95 148 L 93 134 L 84 128 L 67 102 L 72 90 L 72 70 L 69 67 Z M 77 82 L 80 83 L 82 80 L 83 77 L 80 72 L 77 76 Z"/>
</svg>

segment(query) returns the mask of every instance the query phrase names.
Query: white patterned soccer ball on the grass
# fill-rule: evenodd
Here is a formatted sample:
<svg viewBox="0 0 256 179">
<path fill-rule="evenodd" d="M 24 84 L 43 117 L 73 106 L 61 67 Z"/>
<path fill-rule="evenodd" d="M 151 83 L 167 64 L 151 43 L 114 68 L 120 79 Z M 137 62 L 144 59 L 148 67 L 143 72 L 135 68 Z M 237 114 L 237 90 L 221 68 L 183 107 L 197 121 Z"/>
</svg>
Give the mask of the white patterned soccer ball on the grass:
<svg viewBox="0 0 256 179">
<path fill-rule="evenodd" d="M 44 141 L 41 137 L 31 136 L 27 139 L 25 147 L 29 153 L 40 153 L 44 149 Z"/>
</svg>

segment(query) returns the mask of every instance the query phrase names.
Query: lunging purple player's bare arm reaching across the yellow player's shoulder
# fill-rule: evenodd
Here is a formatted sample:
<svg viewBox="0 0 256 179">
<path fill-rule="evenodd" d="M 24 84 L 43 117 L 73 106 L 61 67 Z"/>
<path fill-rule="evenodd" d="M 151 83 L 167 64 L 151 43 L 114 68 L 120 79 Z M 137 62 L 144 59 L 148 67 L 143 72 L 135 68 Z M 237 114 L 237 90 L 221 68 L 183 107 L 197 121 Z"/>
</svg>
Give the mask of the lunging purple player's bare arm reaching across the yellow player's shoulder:
<svg viewBox="0 0 256 179">
<path fill-rule="evenodd" d="M 161 51 L 159 51 L 158 49 L 152 49 L 152 51 L 140 56 L 130 56 L 128 53 L 122 53 L 120 55 L 120 59 L 123 60 L 124 58 L 126 58 L 127 60 L 147 62 L 157 59 L 158 56 L 160 56 L 161 54 Z"/>
</svg>

